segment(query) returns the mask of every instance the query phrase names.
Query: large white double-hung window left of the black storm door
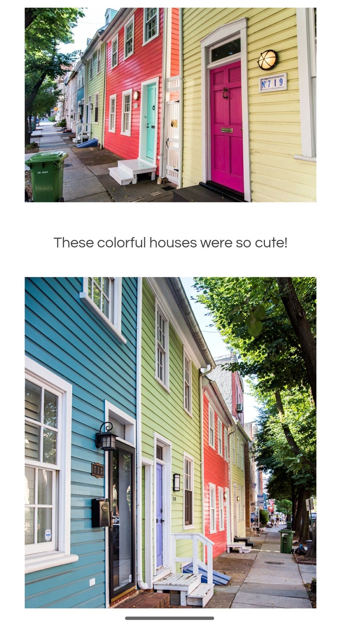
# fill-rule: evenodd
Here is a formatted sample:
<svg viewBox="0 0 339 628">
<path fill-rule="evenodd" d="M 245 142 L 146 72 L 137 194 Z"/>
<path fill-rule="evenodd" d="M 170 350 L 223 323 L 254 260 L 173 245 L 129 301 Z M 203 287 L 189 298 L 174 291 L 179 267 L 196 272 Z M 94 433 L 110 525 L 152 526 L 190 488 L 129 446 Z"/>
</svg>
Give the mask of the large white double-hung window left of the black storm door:
<svg viewBox="0 0 339 628">
<path fill-rule="evenodd" d="M 71 416 L 72 386 L 26 358 L 26 573 L 78 560 L 70 555 Z"/>
</svg>

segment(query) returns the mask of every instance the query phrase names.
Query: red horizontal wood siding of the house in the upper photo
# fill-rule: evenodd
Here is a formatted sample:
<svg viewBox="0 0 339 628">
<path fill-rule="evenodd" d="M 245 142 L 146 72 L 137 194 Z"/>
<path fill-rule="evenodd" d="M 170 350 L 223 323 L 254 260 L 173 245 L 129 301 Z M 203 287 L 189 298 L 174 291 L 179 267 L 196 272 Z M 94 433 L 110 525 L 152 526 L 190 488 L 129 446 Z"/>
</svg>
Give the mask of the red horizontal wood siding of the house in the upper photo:
<svg viewBox="0 0 339 628">
<path fill-rule="evenodd" d="M 160 121 L 163 72 L 163 15 L 159 12 L 159 36 L 143 46 L 144 9 L 134 12 L 134 53 L 124 60 L 124 26 L 119 30 L 118 65 L 112 65 L 112 38 L 107 43 L 106 99 L 105 99 L 105 139 L 104 146 L 123 159 L 136 159 L 139 156 L 139 129 L 141 108 L 141 82 L 159 77 L 158 94 L 158 146 L 156 157 L 160 152 Z M 127 21 L 127 20 L 126 20 Z M 112 35 L 114 38 L 116 33 Z M 131 136 L 121 134 L 122 92 L 132 89 L 138 91 L 137 108 L 131 103 Z M 109 131 L 109 99 L 117 94 L 116 102 L 116 133 Z M 159 166 L 159 164 L 158 164 Z M 158 170 L 157 170 L 158 173 Z"/>
</svg>

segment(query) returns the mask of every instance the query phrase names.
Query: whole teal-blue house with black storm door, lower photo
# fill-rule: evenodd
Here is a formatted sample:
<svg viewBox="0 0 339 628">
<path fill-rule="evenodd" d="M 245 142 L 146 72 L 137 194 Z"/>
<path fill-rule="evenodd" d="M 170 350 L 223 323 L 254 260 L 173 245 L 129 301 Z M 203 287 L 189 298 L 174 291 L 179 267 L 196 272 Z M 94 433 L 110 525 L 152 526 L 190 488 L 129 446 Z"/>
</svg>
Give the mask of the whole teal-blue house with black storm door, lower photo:
<svg viewBox="0 0 339 628">
<path fill-rule="evenodd" d="M 26 608 L 108 607 L 136 587 L 140 290 L 26 279 Z M 95 440 L 106 428 L 109 451 Z"/>
</svg>

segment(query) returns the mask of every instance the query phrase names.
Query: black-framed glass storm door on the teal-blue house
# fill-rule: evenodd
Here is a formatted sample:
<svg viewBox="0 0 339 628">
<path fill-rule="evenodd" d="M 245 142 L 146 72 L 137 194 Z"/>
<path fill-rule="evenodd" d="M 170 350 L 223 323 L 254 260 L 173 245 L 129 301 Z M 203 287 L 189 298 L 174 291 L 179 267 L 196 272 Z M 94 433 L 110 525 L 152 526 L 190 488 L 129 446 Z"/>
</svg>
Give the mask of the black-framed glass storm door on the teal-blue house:
<svg viewBox="0 0 339 628">
<path fill-rule="evenodd" d="M 110 601 L 135 587 L 134 543 L 134 449 L 127 445 L 109 452 L 110 529 L 109 590 Z"/>
</svg>

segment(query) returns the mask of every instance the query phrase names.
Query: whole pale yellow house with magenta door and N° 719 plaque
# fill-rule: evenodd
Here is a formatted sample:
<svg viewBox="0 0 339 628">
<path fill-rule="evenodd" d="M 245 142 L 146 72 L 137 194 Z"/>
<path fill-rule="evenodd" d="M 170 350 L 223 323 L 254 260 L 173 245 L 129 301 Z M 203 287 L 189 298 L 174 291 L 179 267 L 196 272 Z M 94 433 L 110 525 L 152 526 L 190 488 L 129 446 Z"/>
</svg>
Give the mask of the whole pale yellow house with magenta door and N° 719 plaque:
<svg viewBox="0 0 339 628">
<path fill-rule="evenodd" d="M 180 25 L 181 187 L 314 202 L 315 9 L 181 8 Z"/>
</svg>

